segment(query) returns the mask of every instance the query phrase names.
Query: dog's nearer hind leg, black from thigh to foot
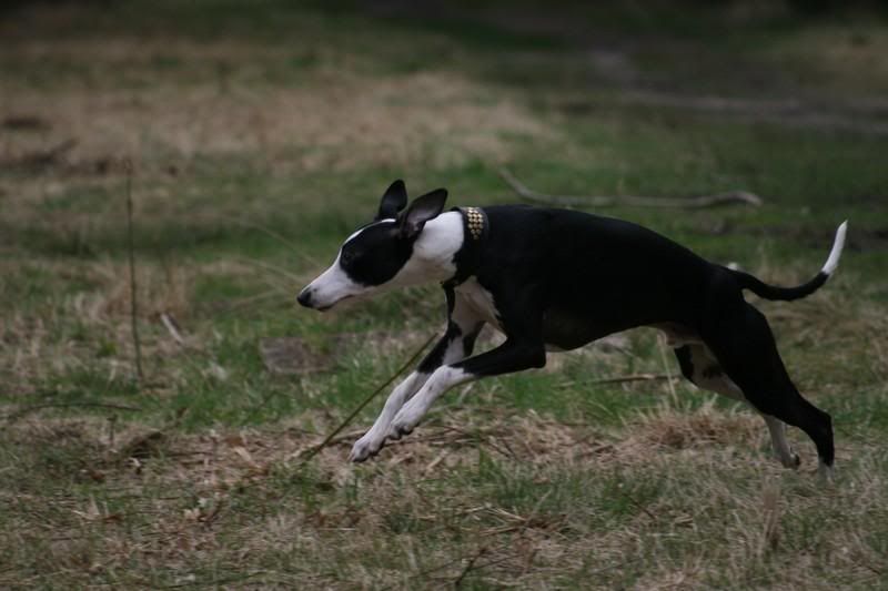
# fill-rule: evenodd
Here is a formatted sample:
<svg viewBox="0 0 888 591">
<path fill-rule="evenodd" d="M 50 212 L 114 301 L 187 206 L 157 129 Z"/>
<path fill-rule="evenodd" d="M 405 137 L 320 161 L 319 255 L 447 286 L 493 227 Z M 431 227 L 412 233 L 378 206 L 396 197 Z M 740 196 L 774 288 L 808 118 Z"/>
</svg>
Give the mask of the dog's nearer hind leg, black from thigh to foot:
<svg viewBox="0 0 888 591">
<path fill-rule="evenodd" d="M 835 447 L 833 419 L 801 397 L 777 351 L 770 326 L 765 316 L 743 299 L 720 309 L 702 335 L 744 397 L 764 415 L 793 425 L 805 431 L 817 447 L 819 472 L 829 478 L 833 472 Z M 779 425 L 768 428 L 778 454 L 785 438 Z M 788 446 L 787 446 L 788 447 Z"/>
</svg>

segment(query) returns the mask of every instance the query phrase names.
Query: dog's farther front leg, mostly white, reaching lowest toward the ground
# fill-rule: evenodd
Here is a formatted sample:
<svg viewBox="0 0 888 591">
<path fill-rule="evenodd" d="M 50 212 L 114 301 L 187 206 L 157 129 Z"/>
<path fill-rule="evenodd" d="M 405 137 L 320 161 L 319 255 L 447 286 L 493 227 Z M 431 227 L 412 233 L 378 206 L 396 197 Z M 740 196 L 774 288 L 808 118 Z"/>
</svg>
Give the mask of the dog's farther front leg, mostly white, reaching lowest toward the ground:
<svg viewBox="0 0 888 591">
<path fill-rule="evenodd" d="M 392 390 L 373 427 L 352 447 L 349 456 L 351 461 L 364 461 L 382 449 L 387 437 L 400 437 L 400 435 L 391 432 L 392 420 L 398 410 L 428 381 L 428 377 L 435 369 L 445 364 L 456 363 L 472 354 L 475 339 L 484 326 L 484 322 L 456 298 L 453 291 L 446 291 L 446 333 L 418 367 Z"/>
</svg>

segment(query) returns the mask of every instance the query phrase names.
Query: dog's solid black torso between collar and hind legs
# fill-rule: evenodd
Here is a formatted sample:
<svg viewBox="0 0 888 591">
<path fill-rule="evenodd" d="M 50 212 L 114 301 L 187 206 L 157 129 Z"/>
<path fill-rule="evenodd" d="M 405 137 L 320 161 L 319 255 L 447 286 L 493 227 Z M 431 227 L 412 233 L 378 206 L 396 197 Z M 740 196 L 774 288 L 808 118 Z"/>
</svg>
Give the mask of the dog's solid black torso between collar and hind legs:
<svg viewBox="0 0 888 591">
<path fill-rule="evenodd" d="M 546 343 L 569 349 L 636 326 L 699 329 L 707 285 L 729 273 L 630 222 L 582 212 L 501 205 L 490 220 L 477 279 L 497 308 L 535 299 Z M 504 318 L 508 322 L 508 318 Z"/>
</svg>

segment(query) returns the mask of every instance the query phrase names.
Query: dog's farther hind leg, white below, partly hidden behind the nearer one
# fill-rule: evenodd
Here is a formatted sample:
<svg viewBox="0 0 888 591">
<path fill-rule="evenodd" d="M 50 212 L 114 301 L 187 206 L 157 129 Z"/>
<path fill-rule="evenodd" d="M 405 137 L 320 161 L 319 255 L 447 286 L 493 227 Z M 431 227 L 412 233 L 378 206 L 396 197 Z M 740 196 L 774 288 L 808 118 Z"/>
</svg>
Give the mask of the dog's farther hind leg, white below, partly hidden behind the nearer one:
<svg viewBox="0 0 888 591">
<path fill-rule="evenodd" d="M 698 388 L 720 394 L 735 400 L 749 403 L 743 390 L 725 375 L 722 366 L 706 345 L 699 343 L 677 347 L 675 356 L 678 358 L 682 374 Z M 780 463 L 787 468 L 798 467 L 799 457 L 786 440 L 786 425 L 780 419 L 764 412 L 761 412 L 761 418 L 765 419 L 765 424 L 768 427 L 771 447 Z"/>
</svg>

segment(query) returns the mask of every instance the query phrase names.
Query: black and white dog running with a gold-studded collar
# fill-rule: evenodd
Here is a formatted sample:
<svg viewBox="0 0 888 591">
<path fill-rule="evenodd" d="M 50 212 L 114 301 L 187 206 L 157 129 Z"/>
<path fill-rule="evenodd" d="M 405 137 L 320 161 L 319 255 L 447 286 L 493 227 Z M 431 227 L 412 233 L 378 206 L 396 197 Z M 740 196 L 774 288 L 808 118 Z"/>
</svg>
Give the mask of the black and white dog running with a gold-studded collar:
<svg viewBox="0 0 888 591">
<path fill-rule="evenodd" d="M 784 466 L 799 463 L 786 441 L 789 424 L 814 440 L 819 471 L 830 476 L 831 419 L 793 385 L 765 316 L 743 291 L 779 300 L 814 293 L 838 265 L 847 222 L 813 279 L 775 287 L 628 222 L 523 205 L 444 212 L 446 196 L 440 188 L 407 206 L 404 183 L 395 181 L 375 221 L 349 236 L 333 265 L 299 294 L 303 306 L 326 310 L 395 286 L 440 282 L 444 288 L 446 334 L 394 389 L 351 460 L 410 434 L 454 386 L 543 367 L 546 350 L 653 326 L 666 333 L 687 379 L 761 412 Z M 485 323 L 506 340 L 471 357 Z"/>
</svg>

